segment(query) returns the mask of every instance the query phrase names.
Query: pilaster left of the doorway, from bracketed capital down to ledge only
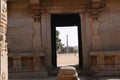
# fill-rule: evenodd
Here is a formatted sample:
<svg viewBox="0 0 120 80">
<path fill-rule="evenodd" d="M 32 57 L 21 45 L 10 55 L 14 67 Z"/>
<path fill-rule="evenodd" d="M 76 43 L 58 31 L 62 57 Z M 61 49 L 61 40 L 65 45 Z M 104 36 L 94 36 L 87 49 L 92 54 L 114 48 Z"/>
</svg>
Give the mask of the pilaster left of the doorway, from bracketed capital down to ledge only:
<svg viewBox="0 0 120 80">
<path fill-rule="evenodd" d="M 42 26 L 41 26 L 41 14 L 42 14 L 42 7 L 40 0 L 30 0 L 30 8 L 29 12 L 31 17 L 34 19 L 33 22 L 33 51 L 35 52 L 42 52 Z"/>
</svg>

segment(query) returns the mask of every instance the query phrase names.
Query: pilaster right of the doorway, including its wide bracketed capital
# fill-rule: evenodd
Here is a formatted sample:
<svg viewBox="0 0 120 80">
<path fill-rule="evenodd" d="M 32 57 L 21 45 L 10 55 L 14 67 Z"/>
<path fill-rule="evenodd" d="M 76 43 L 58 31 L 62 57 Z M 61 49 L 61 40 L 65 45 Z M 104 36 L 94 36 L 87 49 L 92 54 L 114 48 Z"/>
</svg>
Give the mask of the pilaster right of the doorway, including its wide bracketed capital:
<svg viewBox="0 0 120 80">
<path fill-rule="evenodd" d="M 100 13 L 104 10 L 105 0 L 88 0 L 87 11 L 90 15 L 91 51 L 102 50 L 100 35 Z"/>
</svg>

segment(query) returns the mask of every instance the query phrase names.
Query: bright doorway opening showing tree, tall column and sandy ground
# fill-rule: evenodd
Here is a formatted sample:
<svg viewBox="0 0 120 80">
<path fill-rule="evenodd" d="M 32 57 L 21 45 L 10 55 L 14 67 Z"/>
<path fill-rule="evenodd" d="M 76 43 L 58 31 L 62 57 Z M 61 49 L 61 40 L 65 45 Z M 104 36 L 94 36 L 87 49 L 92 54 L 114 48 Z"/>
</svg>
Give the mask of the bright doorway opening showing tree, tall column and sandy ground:
<svg viewBox="0 0 120 80">
<path fill-rule="evenodd" d="M 57 67 L 78 66 L 78 26 L 56 27 Z"/>
</svg>

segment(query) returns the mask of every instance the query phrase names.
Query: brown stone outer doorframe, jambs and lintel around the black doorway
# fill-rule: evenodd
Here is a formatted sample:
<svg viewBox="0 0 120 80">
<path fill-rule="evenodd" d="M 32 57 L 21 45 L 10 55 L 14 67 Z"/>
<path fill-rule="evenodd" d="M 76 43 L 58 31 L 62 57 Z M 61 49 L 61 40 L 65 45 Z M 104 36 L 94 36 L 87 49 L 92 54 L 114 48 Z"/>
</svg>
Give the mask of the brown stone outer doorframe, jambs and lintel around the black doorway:
<svg viewBox="0 0 120 80">
<path fill-rule="evenodd" d="M 90 67 L 90 22 L 89 22 L 89 16 L 85 12 L 85 9 L 80 7 L 64 7 L 63 10 L 59 10 L 60 7 L 51 7 L 49 9 L 46 9 L 46 12 L 42 14 L 42 26 L 44 26 L 43 32 L 44 32 L 44 38 L 43 42 L 44 47 L 46 47 L 46 68 L 50 70 L 50 72 L 53 71 L 52 66 L 52 48 L 51 48 L 51 14 L 65 14 L 65 13 L 71 13 L 76 14 L 78 13 L 81 18 L 81 35 L 82 35 L 82 53 L 83 53 L 83 70 L 87 70 Z M 74 10 L 75 9 L 75 10 Z"/>
</svg>

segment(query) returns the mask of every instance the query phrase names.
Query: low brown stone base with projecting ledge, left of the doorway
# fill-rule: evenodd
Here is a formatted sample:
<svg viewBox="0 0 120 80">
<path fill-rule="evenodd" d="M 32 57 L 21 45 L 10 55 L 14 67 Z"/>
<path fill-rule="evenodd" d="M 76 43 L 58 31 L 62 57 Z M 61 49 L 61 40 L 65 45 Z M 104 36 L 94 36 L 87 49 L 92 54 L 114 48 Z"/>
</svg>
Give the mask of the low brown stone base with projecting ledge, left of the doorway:
<svg viewBox="0 0 120 80">
<path fill-rule="evenodd" d="M 9 54 L 9 77 L 10 78 L 37 78 L 47 77 L 44 53 L 18 53 Z"/>
</svg>

